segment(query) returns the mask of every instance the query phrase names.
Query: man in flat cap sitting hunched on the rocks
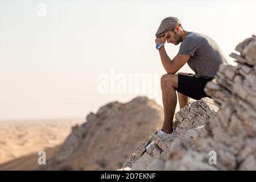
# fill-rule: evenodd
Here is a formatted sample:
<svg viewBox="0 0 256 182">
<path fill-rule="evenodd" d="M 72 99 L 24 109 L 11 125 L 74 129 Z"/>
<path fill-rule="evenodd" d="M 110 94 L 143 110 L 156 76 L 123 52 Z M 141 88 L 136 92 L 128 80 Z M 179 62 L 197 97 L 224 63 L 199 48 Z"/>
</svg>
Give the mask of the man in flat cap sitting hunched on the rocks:
<svg viewBox="0 0 256 182">
<path fill-rule="evenodd" d="M 155 36 L 156 49 L 167 72 L 161 78 L 164 123 L 158 134 L 174 134 L 172 121 L 177 104 L 176 91 L 180 109 L 188 104 L 189 97 L 195 100 L 209 97 L 204 92 L 205 85 L 216 75 L 220 64 L 228 64 L 228 61 L 213 39 L 184 30 L 179 19 L 175 17 L 163 19 Z M 181 43 L 179 52 L 172 60 L 164 49 L 166 41 L 175 46 Z M 188 63 L 195 74 L 177 73 L 185 63 Z"/>
</svg>

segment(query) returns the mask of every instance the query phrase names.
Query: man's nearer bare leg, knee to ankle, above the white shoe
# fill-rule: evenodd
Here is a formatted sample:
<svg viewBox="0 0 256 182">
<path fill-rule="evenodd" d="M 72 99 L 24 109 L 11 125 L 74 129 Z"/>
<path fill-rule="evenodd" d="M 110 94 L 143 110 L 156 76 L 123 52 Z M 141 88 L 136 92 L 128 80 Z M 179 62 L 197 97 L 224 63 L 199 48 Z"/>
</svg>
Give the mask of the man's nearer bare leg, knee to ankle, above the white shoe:
<svg viewBox="0 0 256 182">
<path fill-rule="evenodd" d="M 164 123 L 162 131 L 172 133 L 172 121 L 174 119 L 177 96 L 174 88 L 177 88 L 177 75 L 166 74 L 161 78 L 162 100 L 164 106 Z"/>
</svg>

